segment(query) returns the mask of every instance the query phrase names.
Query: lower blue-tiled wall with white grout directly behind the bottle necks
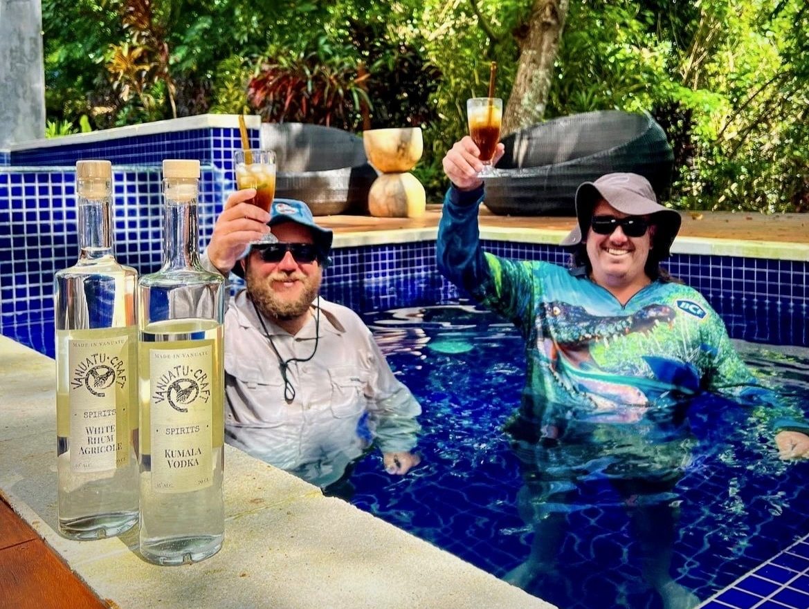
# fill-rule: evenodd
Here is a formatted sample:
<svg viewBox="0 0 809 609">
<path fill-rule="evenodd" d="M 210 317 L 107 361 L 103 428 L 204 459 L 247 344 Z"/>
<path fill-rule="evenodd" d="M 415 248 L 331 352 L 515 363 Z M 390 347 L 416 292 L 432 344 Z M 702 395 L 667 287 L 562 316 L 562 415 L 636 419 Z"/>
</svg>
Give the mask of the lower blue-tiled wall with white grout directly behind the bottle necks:
<svg viewBox="0 0 809 609">
<path fill-rule="evenodd" d="M 156 271 L 163 256 L 160 166 L 113 166 L 115 250 L 122 264 Z M 203 166 L 199 224 L 206 243 L 227 191 L 228 172 Z M 53 274 L 78 258 L 75 170 L 0 169 L 2 325 L 53 318 Z"/>
</svg>

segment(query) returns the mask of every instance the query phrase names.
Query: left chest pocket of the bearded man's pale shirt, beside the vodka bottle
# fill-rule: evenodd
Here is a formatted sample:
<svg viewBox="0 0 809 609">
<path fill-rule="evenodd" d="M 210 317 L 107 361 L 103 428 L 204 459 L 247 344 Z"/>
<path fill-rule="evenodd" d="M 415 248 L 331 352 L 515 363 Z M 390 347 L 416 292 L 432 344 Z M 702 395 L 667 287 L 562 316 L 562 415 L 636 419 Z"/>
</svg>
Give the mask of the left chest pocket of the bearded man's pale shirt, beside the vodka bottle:
<svg viewBox="0 0 809 609">
<path fill-rule="evenodd" d="M 225 372 L 233 377 L 227 388 L 228 425 L 277 427 L 292 421 L 296 411 L 286 404 L 280 372 L 262 370 L 227 354 Z"/>
</svg>

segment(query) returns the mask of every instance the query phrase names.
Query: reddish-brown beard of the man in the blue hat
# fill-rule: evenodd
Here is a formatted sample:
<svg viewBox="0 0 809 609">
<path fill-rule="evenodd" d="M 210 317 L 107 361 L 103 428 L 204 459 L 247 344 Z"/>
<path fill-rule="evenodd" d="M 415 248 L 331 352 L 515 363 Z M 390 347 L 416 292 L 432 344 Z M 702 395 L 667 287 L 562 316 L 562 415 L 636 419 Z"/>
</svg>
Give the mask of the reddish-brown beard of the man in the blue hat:
<svg viewBox="0 0 809 609">
<path fill-rule="evenodd" d="M 244 279 L 247 283 L 248 295 L 256 303 L 256 308 L 265 317 L 286 321 L 307 313 L 320 290 L 321 277 L 320 266 L 317 267 L 316 273 L 311 275 L 295 271 L 294 273 L 271 273 L 265 277 L 256 277 L 250 272 L 248 264 Z M 273 290 L 273 282 L 290 279 L 299 280 L 301 283 L 302 289 L 298 296 L 279 294 Z"/>
</svg>

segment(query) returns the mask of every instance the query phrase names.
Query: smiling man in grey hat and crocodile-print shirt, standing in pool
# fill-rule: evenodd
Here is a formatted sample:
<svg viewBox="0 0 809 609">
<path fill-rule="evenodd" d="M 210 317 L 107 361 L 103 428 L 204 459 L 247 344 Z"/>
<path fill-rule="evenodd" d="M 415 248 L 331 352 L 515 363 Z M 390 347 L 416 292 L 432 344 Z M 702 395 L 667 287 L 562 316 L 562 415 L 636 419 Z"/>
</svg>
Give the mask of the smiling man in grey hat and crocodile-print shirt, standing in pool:
<svg viewBox="0 0 809 609">
<path fill-rule="evenodd" d="M 534 536 L 529 557 L 506 580 L 532 590 L 558 584 L 568 515 L 609 497 L 599 487 L 608 481 L 625 503 L 643 577 L 663 607 L 695 607 L 699 599 L 670 573 L 676 483 L 694 445 L 688 406 L 769 406 L 782 459 L 809 455 L 809 423 L 752 376 L 705 298 L 660 267 L 680 214 L 658 203 L 646 178 L 606 174 L 578 187 L 577 222 L 562 241 L 573 264 L 565 268 L 482 250 L 478 154 L 467 136 L 443 159 L 451 186 L 436 257 L 447 279 L 525 338 L 525 388 L 506 432 L 523 469 L 518 507 Z M 586 532 L 578 531 L 577 544 L 587 543 Z M 604 599 L 604 607 L 617 604 Z"/>
</svg>

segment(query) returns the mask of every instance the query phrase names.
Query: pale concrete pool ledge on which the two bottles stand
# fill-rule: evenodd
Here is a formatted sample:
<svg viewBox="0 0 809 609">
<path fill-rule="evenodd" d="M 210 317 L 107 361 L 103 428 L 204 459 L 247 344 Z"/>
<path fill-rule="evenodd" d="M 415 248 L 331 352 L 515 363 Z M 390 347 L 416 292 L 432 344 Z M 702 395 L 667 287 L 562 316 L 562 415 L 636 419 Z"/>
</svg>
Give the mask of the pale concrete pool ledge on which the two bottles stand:
<svg viewBox="0 0 809 609">
<path fill-rule="evenodd" d="M 138 535 L 77 542 L 57 528 L 55 363 L 0 337 L 0 491 L 111 607 L 525 607 L 553 605 L 425 541 L 225 447 L 225 544 L 157 567 Z M 114 603 L 114 604 L 113 604 Z"/>
</svg>

